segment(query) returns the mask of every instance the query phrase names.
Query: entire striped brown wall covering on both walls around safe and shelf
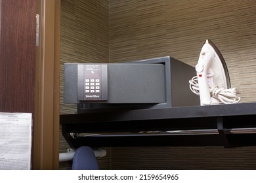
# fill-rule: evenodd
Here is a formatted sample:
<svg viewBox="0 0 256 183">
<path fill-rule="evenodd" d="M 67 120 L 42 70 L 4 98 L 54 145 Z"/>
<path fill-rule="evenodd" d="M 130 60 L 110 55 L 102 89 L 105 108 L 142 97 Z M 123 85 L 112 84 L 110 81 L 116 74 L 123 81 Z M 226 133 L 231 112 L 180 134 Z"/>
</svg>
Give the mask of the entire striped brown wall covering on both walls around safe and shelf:
<svg viewBox="0 0 256 183">
<path fill-rule="evenodd" d="M 242 102 L 256 101 L 255 17 L 253 0 L 62 0 L 61 61 L 171 56 L 195 66 L 203 42 L 211 39 Z M 60 105 L 61 114 L 75 111 Z M 64 150 L 65 142 L 60 146 Z M 256 147 L 115 147 L 99 161 L 102 169 L 256 169 L 255 154 Z"/>
</svg>

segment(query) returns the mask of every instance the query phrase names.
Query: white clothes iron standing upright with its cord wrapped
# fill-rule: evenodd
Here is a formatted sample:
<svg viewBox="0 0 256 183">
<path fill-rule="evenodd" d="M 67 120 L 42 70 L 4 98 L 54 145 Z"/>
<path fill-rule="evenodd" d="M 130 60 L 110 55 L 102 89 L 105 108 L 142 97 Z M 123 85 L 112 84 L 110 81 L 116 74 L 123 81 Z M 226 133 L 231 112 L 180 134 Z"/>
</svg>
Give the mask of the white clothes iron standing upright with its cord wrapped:
<svg viewBox="0 0 256 183">
<path fill-rule="evenodd" d="M 228 69 L 221 52 L 208 39 L 200 52 L 196 73 L 197 76 L 190 80 L 190 89 L 200 95 L 201 105 L 240 101 L 236 88 L 230 88 Z"/>
</svg>

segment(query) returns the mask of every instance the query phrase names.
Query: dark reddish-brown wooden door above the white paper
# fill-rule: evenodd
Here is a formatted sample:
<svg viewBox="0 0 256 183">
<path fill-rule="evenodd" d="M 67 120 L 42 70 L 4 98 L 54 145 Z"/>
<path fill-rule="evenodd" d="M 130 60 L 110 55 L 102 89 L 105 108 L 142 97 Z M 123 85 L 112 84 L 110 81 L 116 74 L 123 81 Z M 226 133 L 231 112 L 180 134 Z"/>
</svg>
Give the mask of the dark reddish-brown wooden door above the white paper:
<svg viewBox="0 0 256 183">
<path fill-rule="evenodd" d="M 0 0 L 1 112 L 33 113 L 35 15 L 34 0 Z"/>
</svg>

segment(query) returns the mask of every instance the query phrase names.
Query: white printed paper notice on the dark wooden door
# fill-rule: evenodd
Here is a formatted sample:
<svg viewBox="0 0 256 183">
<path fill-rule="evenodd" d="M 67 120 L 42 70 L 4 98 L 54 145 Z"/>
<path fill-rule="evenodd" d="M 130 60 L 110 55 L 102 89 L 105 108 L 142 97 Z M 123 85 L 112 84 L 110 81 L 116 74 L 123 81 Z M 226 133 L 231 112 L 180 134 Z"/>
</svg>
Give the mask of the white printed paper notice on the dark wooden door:
<svg viewBox="0 0 256 183">
<path fill-rule="evenodd" d="M 0 169 L 31 169 L 32 114 L 0 112 Z"/>
</svg>

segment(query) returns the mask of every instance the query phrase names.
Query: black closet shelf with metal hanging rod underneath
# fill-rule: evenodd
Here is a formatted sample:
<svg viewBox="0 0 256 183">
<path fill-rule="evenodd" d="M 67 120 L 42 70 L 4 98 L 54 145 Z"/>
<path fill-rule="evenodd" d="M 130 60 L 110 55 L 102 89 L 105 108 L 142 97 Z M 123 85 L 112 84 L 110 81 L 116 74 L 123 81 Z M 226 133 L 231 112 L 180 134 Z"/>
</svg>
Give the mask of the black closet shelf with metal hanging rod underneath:
<svg viewBox="0 0 256 183">
<path fill-rule="evenodd" d="M 60 124 L 62 134 L 72 148 L 83 145 L 256 145 L 253 140 L 256 136 L 256 103 L 156 109 L 88 109 L 84 114 L 61 115 Z M 79 133 L 87 136 L 77 137 Z"/>
</svg>

